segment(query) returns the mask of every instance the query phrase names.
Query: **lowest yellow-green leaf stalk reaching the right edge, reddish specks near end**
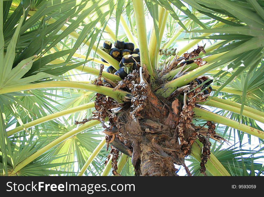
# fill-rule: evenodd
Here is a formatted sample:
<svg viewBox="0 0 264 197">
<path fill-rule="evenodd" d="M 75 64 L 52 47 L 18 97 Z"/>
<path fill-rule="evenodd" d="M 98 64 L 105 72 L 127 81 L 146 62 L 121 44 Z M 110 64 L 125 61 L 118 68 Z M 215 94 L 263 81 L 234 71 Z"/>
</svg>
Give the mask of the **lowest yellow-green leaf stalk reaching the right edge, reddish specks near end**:
<svg viewBox="0 0 264 197">
<path fill-rule="evenodd" d="M 206 111 L 204 109 L 200 109 L 198 107 L 195 107 L 193 109 L 195 118 L 200 118 L 203 120 L 213 121 L 219 124 L 224 124 L 226 126 L 232 127 L 234 129 L 240 130 L 242 132 L 248 133 L 250 135 L 256 136 L 260 139 L 264 139 L 264 132 L 252 127 L 249 127 L 245 124 L 239 123 L 237 121 L 234 121 L 232 119 L 220 116 L 218 114 L 215 114 L 213 112 Z"/>
</svg>

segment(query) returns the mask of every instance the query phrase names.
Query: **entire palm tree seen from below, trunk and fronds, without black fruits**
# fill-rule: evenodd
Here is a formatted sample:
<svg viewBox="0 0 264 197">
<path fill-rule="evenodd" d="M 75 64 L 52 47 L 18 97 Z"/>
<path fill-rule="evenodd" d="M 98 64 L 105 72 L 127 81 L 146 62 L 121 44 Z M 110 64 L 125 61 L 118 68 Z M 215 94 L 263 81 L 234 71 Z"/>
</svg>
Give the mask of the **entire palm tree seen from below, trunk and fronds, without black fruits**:
<svg viewBox="0 0 264 197">
<path fill-rule="evenodd" d="M 259 0 L 0 0 L 1 175 L 263 175 L 263 16 Z M 139 48 L 133 88 L 98 77 L 119 69 L 105 40 Z"/>
</svg>

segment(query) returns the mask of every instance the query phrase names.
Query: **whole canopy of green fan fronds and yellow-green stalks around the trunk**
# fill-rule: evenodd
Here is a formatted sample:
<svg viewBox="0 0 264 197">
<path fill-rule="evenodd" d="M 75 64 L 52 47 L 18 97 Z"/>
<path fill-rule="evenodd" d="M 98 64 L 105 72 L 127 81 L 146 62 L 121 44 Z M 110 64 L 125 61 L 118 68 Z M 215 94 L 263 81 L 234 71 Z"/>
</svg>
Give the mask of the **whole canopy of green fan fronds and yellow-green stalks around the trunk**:
<svg viewBox="0 0 264 197">
<path fill-rule="evenodd" d="M 121 80 L 105 72 L 119 62 L 98 48 L 116 39 L 140 49 L 149 86 L 164 102 L 193 79 L 211 76 L 213 92 L 200 104 L 212 113 L 194 108 L 193 123 L 218 121 L 217 134 L 232 145 L 211 140 L 207 175 L 263 175 L 263 14 L 256 0 L 0 0 L 1 175 L 112 175 L 111 162 L 104 166 L 109 152 L 96 148 L 104 139 L 99 122 L 74 122 L 93 115 L 93 103 L 85 106 L 96 92 L 120 103 L 131 97 L 126 89 L 92 85 L 101 58 L 109 62 L 103 78 Z M 205 43 L 207 53 L 196 58 L 207 64 L 188 64 L 174 80 L 181 68 L 161 74 L 174 56 L 159 55 L 160 48 L 181 56 Z M 197 176 L 200 149 L 195 144 L 186 159 Z M 135 174 L 131 158 L 122 154 L 118 163 L 121 175 Z"/>
</svg>

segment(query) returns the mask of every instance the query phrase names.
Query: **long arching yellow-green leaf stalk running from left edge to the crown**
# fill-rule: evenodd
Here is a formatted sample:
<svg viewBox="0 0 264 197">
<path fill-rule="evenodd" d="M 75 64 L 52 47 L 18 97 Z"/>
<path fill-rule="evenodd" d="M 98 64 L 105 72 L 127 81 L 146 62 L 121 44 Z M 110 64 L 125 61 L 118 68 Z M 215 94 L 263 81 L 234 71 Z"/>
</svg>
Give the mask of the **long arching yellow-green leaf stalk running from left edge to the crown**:
<svg viewBox="0 0 264 197">
<path fill-rule="evenodd" d="M 0 89 L 0 94 L 32 90 L 32 89 L 40 89 L 40 88 L 73 88 L 73 89 L 89 90 L 112 97 L 118 102 L 122 102 L 124 96 L 130 96 L 130 94 L 126 91 L 116 90 L 113 92 L 113 88 L 87 84 L 83 82 L 70 82 L 70 81 L 50 81 L 50 82 L 31 83 L 27 85 L 4 87 Z"/>
</svg>

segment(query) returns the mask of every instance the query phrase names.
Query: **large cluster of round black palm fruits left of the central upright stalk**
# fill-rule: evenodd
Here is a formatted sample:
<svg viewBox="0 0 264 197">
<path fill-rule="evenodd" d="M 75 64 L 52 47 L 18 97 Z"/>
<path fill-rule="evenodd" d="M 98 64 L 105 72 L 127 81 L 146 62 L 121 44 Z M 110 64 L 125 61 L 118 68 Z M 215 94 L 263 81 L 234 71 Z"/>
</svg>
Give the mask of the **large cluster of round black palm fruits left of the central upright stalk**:
<svg viewBox="0 0 264 197">
<path fill-rule="evenodd" d="M 135 49 L 134 43 L 116 40 L 112 48 L 112 43 L 110 41 L 105 41 L 100 48 L 120 62 L 120 68 L 118 70 L 113 66 L 109 66 L 107 68 L 108 73 L 113 73 L 120 76 L 121 79 L 125 79 L 131 71 L 139 70 L 140 52 L 138 48 Z M 108 63 L 103 58 L 101 60 Z"/>
</svg>

